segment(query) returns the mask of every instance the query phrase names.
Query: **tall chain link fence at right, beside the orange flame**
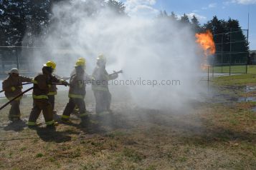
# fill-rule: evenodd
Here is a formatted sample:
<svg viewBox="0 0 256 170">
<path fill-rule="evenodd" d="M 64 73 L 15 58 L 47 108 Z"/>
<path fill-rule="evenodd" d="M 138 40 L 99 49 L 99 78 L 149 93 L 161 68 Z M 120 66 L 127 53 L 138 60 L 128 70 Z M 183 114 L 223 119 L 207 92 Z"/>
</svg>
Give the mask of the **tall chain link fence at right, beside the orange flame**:
<svg viewBox="0 0 256 170">
<path fill-rule="evenodd" d="M 215 34 L 216 54 L 209 58 L 207 72 L 209 76 L 247 74 L 249 58 L 248 30 L 230 30 Z"/>
</svg>

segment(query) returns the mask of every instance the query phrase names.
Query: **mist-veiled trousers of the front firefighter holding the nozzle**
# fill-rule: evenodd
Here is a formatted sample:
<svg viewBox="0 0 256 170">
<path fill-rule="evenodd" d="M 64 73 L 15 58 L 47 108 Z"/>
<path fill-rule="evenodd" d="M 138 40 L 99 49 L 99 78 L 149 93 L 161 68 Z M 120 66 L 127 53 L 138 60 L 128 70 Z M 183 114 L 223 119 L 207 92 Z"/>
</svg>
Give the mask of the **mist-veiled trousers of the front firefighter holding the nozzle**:
<svg viewBox="0 0 256 170">
<path fill-rule="evenodd" d="M 109 91 L 93 91 L 96 101 L 96 113 L 110 110 L 111 94 Z"/>
</svg>

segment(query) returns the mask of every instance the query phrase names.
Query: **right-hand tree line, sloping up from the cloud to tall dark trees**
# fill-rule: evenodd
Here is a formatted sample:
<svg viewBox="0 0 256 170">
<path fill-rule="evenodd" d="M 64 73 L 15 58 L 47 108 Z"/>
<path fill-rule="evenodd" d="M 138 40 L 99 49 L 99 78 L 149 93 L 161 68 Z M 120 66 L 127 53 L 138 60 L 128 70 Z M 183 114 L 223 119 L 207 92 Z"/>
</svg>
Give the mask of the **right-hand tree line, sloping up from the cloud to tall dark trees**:
<svg viewBox="0 0 256 170">
<path fill-rule="evenodd" d="M 216 46 L 216 54 L 212 61 L 214 64 L 250 64 L 251 62 L 247 30 L 241 29 L 237 19 L 229 18 L 226 21 L 213 16 L 206 24 L 201 25 L 196 16 L 189 19 L 189 16 L 184 14 L 179 18 L 173 11 L 171 14 L 161 11 L 158 17 L 178 22 L 181 26 L 190 26 L 195 34 L 211 31 Z"/>
</svg>

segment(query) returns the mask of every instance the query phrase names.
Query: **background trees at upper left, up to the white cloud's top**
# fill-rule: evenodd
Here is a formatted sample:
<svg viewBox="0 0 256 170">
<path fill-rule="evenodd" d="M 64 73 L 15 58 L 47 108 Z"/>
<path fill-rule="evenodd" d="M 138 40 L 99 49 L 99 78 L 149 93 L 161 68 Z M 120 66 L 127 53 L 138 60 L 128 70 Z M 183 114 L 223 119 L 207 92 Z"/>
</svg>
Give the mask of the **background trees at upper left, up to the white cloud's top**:
<svg viewBox="0 0 256 170">
<path fill-rule="evenodd" d="M 0 46 L 34 46 L 35 39 L 47 36 L 49 24 L 54 22 L 52 5 L 69 0 L 1 0 L 0 1 Z M 90 3 L 101 3 L 108 6 L 117 14 L 125 14 L 122 2 L 110 0 L 83 1 L 78 6 L 93 14 Z"/>
</svg>

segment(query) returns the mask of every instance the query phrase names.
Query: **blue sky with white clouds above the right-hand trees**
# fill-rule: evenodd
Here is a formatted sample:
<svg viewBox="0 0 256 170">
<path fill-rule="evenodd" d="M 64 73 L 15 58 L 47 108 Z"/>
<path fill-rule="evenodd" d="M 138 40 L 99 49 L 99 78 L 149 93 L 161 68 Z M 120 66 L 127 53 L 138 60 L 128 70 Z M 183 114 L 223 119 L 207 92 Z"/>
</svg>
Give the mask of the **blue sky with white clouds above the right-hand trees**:
<svg viewBox="0 0 256 170">
<path fill-rule="evenodd" d="M 250 50 L 256 50 L 256 0 L 122 0 L 126 12 L 130 16 L 153 18 L 159 11 L 171 11 L 177 16 L 186 13 L 189 17 L 195 15 L 201 24 L 211 20 L 213 16 L 218 19 L 237 19 L 242 29 L 248 29 L 248 13 L 250 14 L 249 42 Z"/>
</svg>

